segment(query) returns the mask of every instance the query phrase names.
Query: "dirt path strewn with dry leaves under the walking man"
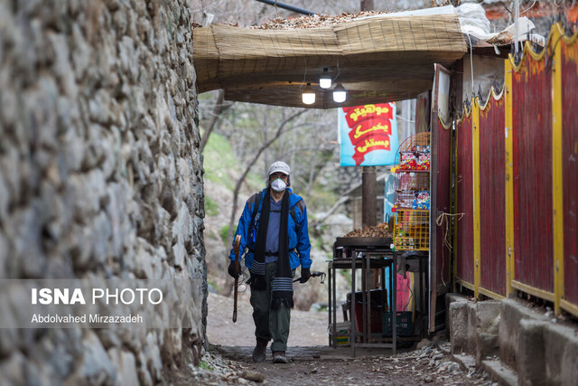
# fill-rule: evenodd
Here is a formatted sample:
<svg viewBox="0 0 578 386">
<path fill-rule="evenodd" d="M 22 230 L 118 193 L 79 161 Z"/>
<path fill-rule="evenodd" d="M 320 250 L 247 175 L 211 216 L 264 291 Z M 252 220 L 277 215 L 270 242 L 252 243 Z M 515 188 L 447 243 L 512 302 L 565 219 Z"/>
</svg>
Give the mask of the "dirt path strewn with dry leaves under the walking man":
<svg viewBox="0 0 578 386">
<path fill-rule="evenodd" d="M 233 324 L 233 301 L 210 294 L 207 336 L 210 349 L 200 365 L 189 364 L 165 372 L 170 384 L 224 385 L 492 385 L 487 374 L 464 369 L 452 362 L 450 344 L 441 336 L 424 341 L 420 349 L 351 349 L 328 347 L 327 314 L 292 312 L 287 357 L 290 362 L 254 363 L 254 325 L 248 294 L 238 303 L 238 321 Z"/>
</svg>

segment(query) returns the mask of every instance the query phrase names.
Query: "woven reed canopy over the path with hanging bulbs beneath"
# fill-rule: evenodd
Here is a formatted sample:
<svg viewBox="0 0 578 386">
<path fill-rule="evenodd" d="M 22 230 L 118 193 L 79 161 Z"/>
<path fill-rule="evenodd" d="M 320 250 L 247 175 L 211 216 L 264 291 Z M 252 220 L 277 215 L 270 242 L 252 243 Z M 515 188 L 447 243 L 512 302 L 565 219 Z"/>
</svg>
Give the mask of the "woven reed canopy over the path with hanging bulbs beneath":
<svg viewBox="0 0 578 386">
<path fill-rule="evenodd" d="M 431 89 L 433 63 L 451 65 L 466 52 L 455 14 L 370 17 L 330 27 L 247 29 L 213 24 L 193 30 L 199 92 L 225 89 L 225 99 L 278 106 L 336 108 L 414 98 Z M 319 88 L 329 68 L 348 90 L 333 102 Z M 301 99 L 311 82 L 313 105 Z"/>
</svg>

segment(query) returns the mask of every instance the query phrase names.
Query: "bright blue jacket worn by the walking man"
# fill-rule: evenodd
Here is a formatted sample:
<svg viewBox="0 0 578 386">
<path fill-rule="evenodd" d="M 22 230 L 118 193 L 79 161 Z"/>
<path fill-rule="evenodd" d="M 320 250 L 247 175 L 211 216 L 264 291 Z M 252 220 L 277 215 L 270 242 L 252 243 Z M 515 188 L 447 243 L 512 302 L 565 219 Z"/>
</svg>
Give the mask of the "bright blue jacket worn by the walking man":
<svg viewBox="0 0 578 386">
<path fill-rule="evenodd" d="M 259 219 L 261 218 L 261 209 L 263 207 L 263 202 L 265 201 L 265 193 L 266 189 L 261 191 L 261 200 L 259 201 L 259 208 L 256 214 L 256 230 L 259 229 Z M 287 188 L 289 193 L 291 189 Z M 251 268 L 251 264 L 253 263 L 253 250 L 255 249 L 255 245 L 253 245 L 253 241 L 250 241 L 250 235 L 248 234 L 250 223 L 251 223 L 251 216 L 253 214 L 253 207 L 255 206 L 255 202 L 249 202 L 251 200 L 247 200 L 245 203 L 245 209 L 243 210 L 243 214 L 241 214 L 241 218 L 238 220 L 238 227 L 237 232 L 235 232 L 235 237 L 237 235 L 241 235 L 241 245 L 239 247 L 240 253 L 243 253 L 243 250 L 248 248 L 247 254 L 245 255 L 245 265 L 247 268 Z M 301 265 L 302 268 L 311 268 L 312 260 L 309 256 L 311 252 L 311 243 L 309 242 L 309 229 L 307 228 L 307 208 L 305 205 L 297 205 L 297 202 L 303 201 L 303 198 L 295 193 L 289 195 L 289 211 L 294 207 L 295 217 L 297 218 L 298 224 L 295 225 L 293 216 L 289 215 L 289 224 L 287 227 L 287 237 L 289 238 L 288 247 L 291 251 L 289 253 L 289 262 L 291 264 L 291 269 L 297 268 Z M 300 206 L 303 207 L 303 212 L 300 210 Z M 235 240 L 235 238 L 233 238 Z M 250 242 L 247 242 L 250 241 Z M 230 255 L 228 256 L 229 259 L 235 259 L 235 253 L 231 249 Z"/>
</svg>

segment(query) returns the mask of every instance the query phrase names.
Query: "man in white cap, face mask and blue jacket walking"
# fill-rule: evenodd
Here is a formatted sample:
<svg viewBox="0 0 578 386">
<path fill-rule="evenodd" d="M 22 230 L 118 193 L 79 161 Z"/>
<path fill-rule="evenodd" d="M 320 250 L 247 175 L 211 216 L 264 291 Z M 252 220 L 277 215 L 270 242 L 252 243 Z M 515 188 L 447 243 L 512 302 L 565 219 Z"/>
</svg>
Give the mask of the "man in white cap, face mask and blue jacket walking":
<svg viewBox="0 0 578 386">
<path fill-rule="evenodd" d="M 267 187 L 249 197 L 235 233 L 241 236 L 240 250 L 248 249 L 245 265 L 251 272 L 247 283 L 255 321 L 254 362 L 265 361 L 270 340 L 273 362 L 287 362 L 295 268 L 301 265 L 301 283 L 311 277 L 307 210 L 303 198 L 289 189 L 290 174 L 289 165 L 282 161 L 269 167 Z M 229 259 L 228 274 L 238 278 L 233 249 Z"/>
</svg>

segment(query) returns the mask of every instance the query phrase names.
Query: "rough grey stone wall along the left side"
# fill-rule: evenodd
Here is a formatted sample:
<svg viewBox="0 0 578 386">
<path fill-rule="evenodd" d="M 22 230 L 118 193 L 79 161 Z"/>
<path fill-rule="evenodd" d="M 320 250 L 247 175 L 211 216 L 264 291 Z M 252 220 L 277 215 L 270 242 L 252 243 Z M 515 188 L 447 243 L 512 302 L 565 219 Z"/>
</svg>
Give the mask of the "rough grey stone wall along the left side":
<svg viewBox="0 0 578 386">
<path fill-rule="evenodd" d="M 198 361 L 195 105 L 185 0 L 0 0 L 0 278 L 163 278 L 193 291 L 188 329 L 0 329 L 2 382 L 153 384 L 183 354 Z M 19 301 L 0 297 L 0 324 Z"/>
</svg>

